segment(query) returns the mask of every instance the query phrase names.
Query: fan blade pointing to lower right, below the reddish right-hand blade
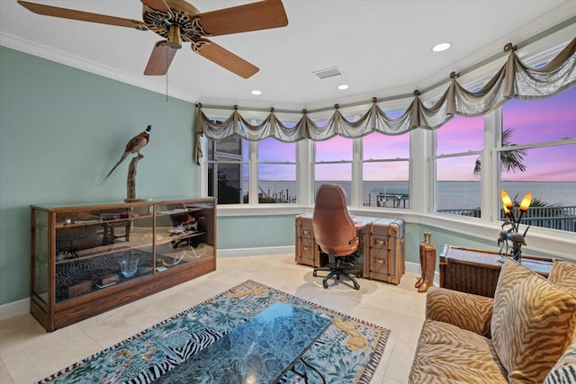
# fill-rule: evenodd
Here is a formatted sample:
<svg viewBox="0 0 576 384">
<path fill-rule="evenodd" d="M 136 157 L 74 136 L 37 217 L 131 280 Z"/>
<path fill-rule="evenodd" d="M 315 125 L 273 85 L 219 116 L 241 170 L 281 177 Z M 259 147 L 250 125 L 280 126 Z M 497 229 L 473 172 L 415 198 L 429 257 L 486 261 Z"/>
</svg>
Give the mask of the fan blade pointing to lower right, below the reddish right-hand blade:
<svg viewBox="0 0 576 384">
<path fill-rule="evenodd" d="M 248 63 L 244 58 L 239 58 L 228 49 L 220 47 L 220 45 L 211 40 L 199 39 L 193 41 L 191 47 L 200 56 L 208 58 L 211 62 L 228 69 L 240 77 L 248 78 L 260 70 L 258 67 Z"/>
</svg>

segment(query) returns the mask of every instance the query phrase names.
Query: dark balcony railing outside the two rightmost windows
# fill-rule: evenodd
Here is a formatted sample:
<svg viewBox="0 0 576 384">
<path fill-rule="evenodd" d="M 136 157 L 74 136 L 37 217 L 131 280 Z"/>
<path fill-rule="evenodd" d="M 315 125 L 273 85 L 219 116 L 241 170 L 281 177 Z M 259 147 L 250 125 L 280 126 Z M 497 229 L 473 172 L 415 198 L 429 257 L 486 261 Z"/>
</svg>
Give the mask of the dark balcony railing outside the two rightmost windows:
<svg viewBox="0 0 576 384">
<path fill-rule="evenodd" d="M 437 210 L 438 212 L 452 213 L 455 215 L 479 217 L 480 210 Z M 514 215 L 518 218 L 520 211 L 514 209 Z M 504 210 L 500 210 L 500 220 L 506 220 Z M 576 232 L 576 206 L 571 207 L 531 207 L 522 216 L 523 226 L 558 229 L 568 232 Z"/>
</svg>

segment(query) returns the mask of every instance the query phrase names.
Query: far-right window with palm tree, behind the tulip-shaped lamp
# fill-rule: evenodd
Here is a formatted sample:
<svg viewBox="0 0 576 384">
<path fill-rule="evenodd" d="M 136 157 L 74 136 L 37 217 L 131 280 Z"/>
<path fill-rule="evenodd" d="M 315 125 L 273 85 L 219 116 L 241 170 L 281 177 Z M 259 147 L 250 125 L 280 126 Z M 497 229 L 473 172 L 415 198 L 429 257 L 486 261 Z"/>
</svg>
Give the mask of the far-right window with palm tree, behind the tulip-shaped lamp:
<svg viewBox="0 0 576 384">
<path fill-rule="evenodd" d="M 524 225 L 576 230 L 574 110 L 575 87 L 551 98 L 514 100 L 502 107 L 500 188 L 516 202 L 532 192 Z"/>
</svg>

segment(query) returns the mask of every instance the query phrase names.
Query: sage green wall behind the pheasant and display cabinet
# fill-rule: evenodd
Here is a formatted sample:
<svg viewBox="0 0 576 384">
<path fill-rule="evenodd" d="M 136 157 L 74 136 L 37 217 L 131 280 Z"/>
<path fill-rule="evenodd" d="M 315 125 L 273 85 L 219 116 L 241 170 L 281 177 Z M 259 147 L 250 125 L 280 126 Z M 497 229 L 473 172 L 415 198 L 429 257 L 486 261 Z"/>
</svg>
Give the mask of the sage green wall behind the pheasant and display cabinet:
<svg viewBox="0 0 576 384">
<path fill-rule="evenodd" d="M 195 197 L 193 103 L 0 47 L 0 304 L 30 296 L 30 204 L 122 201 L 130 138 L 152 125 L 136 192 Z"/>
</svg>

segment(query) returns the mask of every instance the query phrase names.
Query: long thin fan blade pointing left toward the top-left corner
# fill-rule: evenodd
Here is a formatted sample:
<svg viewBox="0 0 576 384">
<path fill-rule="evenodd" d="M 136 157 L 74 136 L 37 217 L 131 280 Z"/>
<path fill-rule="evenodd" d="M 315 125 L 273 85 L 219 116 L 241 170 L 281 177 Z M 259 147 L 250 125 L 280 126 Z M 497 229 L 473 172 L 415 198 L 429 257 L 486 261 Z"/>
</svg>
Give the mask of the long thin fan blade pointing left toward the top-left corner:
<svg viewBox="0 0 576 384">
<path fill-rule="evenodd" d="M 81 22 L 99 22 L 101 24 L 117 25 L 119 27 L 137 28 L 139 30 L 148 30 L 144 22 L 138 20 L 123 19 L 121 17 L 107 16 L 99 13 L 89 13 L 75 11 L 73 9 L 58 8 L 57 6 L 29 3 L 18 0 L 24 8 L 33 13 L 43 14 L 45 16 L 61 17 L 63 19 L 79 20 Z"/>
</svg>

